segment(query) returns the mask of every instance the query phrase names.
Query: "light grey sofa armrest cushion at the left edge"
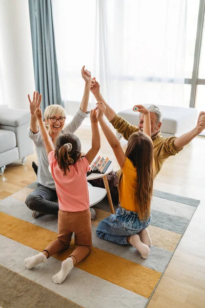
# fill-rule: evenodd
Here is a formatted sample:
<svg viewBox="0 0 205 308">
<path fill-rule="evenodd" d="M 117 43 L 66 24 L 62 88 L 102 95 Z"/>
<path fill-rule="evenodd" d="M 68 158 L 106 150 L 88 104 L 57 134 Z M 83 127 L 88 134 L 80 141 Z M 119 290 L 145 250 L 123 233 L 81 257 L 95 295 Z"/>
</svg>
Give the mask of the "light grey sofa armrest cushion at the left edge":
<svg viewBox="0 0 205 308">
<path fill-rule="evenodd" d="M 29 122 L 30 118 L 31 114 L 27 110 L 5 107 L 0 110 L 0 125 L 18 127 Z"/>
</svg>

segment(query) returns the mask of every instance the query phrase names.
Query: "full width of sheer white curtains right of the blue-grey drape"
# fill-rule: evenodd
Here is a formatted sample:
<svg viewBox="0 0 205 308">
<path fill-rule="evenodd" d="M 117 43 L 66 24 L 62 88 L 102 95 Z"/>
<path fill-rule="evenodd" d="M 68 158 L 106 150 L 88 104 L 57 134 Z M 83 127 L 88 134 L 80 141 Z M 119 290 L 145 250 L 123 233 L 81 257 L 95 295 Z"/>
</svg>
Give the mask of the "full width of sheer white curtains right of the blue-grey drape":
<svg viewBox="0 0 205 308">
<path fill-rule="evenodd" d="M 187 0 L 54 1 L 61 96 L 80 101 L 85 64 L 117 111 L 184 106 Z"/>
</svg>

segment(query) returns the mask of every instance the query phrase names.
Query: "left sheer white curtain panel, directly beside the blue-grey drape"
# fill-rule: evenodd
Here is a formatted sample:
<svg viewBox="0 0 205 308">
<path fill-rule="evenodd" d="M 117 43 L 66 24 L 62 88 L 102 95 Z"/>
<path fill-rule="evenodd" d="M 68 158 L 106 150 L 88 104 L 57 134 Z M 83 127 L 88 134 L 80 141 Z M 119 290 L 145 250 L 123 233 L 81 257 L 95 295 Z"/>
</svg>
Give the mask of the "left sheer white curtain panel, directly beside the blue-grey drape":
<svg viewBox="0 0 205 308">
<path fill-rule="evenodd" d="M 53 1 L 60 94 L 68 114 L 75 113 L 83 97 L 81 67 L 86 65 L 94 73 L 95 10 L 95 0 Z"/>
</svg>

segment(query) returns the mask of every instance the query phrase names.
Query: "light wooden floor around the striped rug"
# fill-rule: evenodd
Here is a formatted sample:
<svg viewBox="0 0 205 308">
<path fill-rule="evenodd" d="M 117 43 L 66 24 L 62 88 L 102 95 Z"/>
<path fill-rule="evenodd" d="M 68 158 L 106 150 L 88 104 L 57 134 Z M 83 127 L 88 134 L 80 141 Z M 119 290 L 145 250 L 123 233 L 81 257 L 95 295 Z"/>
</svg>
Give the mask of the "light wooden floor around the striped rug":
<svg viewBox="0 0 205 308">
<path fill-rule="evenodd" d="M 82 151 L 91 145 L 90 126 L 81 125 L 76 132 Z M 126 141 L 121 140 L 126 148 Z M 118 165 L 113 152 L 101 134 L 100 155 Z M 0 200 L 36 180 L 31 167 L 36 154 L 6 167 L 0 176 Z M 197 137 L 178 155 L 169 158 L 158 174 L 154 188 L 172 194 L 201 200 L 165 274 L 159 282 L 148 308 L 205 307 L 205 138 Z"/>
</svg>

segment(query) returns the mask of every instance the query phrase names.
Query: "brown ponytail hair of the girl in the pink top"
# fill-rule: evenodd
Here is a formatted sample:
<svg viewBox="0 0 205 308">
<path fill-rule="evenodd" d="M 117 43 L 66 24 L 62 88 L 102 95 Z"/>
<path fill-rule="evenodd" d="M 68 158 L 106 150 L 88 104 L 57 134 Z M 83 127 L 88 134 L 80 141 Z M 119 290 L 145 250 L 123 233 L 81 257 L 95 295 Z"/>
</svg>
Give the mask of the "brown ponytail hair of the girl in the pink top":
<svg viewBox="0 0 205 308">
<path fill-rule="evenodd" d="M 56 140 L 55 159 L 59 168 L 64 171 L 64 176 L 67 175 L 67 171 L 70 172 L 69 165 L 74 164 L 80 155 L 81 144 L 77 136 L 73 133 L 60 133 Z"/>
</svg>

